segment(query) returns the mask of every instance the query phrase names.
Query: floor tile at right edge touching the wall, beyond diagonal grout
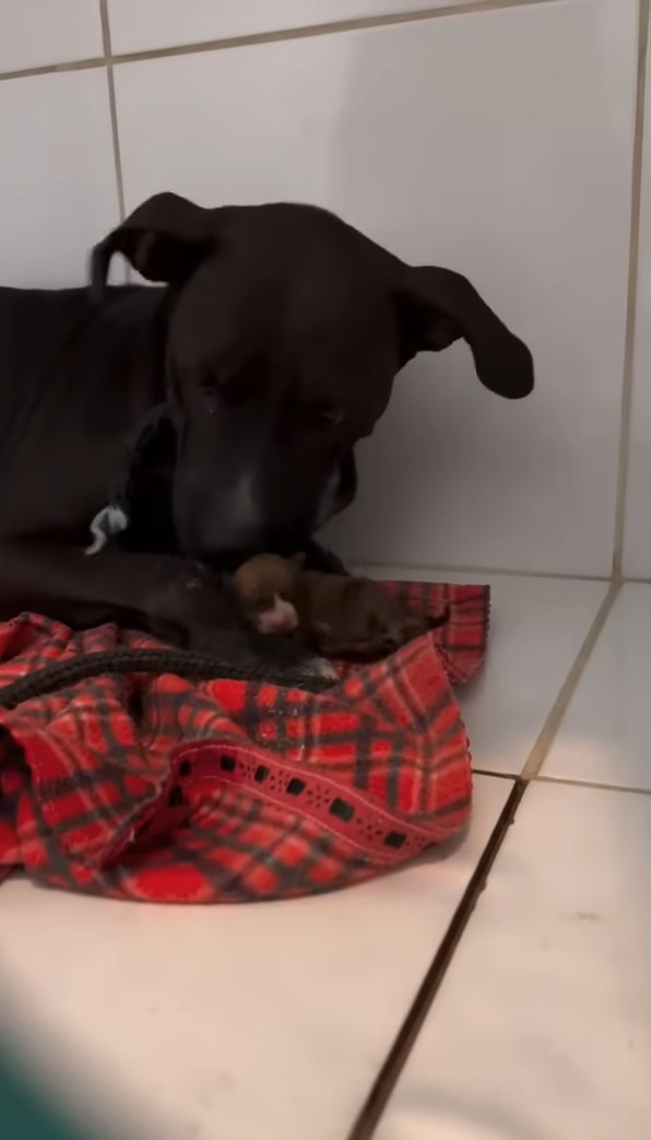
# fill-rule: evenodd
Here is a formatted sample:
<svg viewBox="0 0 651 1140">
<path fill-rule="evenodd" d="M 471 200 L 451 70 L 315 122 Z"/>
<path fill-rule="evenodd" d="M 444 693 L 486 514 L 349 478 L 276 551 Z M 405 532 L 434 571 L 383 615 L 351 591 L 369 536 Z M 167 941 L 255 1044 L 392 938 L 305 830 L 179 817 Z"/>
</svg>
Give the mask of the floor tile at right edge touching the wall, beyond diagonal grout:
<svg viewBox="0 0 651 1140">
<path fill-rule="evenodd" d="M 651 791 L 651 586 L 625 585 L 543 775 Z"/>
</svg>

